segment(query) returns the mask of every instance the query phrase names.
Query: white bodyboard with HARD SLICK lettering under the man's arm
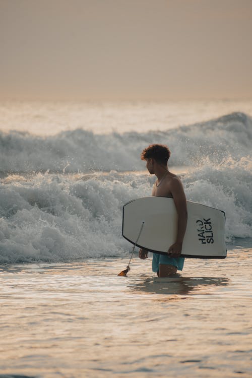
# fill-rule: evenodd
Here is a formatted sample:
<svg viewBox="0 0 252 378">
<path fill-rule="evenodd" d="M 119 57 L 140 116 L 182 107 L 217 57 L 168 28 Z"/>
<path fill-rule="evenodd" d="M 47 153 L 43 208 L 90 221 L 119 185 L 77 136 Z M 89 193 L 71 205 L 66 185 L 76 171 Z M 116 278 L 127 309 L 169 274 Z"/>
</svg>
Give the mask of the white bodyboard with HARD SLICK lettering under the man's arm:
<svg viewBox="0 0 252 378">
<path fill-rule="evenodd" d="M 188 219 L 181 257 L 225 259 L 225 213 L 186 201 Z M 142 232 L 139 236 L 139 233 Z M 177 211 L 172 198 L 144 197 L 123 206 L 122 236 L 140 248 L 167 254 L 177 234 Z"/>
</svg>

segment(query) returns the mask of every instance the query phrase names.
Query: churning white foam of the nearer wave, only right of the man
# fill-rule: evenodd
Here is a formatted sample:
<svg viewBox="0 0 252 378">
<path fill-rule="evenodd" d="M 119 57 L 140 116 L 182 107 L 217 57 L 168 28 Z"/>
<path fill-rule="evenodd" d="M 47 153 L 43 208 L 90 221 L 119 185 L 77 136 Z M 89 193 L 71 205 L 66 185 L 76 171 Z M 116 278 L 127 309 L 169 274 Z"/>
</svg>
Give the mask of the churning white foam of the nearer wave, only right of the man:
<svg viewBox="0 0 252 378">
<path fill-rule="evenodd" d="M 226 240 L 252 237 L 252 162 L 229 158 L 218 166 L 211 163 L 184 177 L 188 200 L 224 210 Z"/>
</svg>

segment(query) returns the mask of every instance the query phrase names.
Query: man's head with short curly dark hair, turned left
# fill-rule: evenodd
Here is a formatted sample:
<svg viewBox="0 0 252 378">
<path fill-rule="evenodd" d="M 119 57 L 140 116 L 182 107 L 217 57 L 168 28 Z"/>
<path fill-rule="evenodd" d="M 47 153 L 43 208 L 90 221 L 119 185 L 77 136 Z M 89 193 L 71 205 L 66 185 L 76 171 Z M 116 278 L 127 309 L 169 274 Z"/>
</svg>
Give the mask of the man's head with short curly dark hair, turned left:
<svg viewBox="0 0 252 378">
<path fill-rule="evenodd" d="M 154 164 L 166 166 L 170 154 L 170 150 L 167 146 L 162 144 L 151 144 L 142 151 L 141 159 L 147 161 L 147 169 L 153 174 Z"/>
</svg>

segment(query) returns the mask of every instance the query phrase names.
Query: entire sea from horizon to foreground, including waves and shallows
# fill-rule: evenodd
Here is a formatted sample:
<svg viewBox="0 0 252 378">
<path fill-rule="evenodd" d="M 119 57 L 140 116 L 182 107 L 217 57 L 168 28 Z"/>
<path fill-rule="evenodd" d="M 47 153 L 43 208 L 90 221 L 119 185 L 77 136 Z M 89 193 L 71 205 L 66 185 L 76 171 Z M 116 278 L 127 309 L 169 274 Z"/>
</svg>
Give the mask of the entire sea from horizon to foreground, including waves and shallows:
<svg viewBox="0 0 252 378">
<path fill-rule="evenodd" d="M 227 258 L 120 277 L 153 143 Z M 252 101 L 2 101 L 0 144 L 0 378 L 252 376 Z"/>
</svg>

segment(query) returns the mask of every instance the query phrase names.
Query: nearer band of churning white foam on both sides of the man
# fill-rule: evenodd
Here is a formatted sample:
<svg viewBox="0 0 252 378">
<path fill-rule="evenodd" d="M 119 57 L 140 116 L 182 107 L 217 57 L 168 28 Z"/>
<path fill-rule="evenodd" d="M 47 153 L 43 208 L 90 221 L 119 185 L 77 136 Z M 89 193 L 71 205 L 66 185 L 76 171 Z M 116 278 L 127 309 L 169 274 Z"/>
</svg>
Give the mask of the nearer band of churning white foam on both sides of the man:
<svg viewBox="0 0 252 378">
<path fill-rule="evenodd" d="M 154 177 L 137 173 L 9 176 L 1 187 L 0 261 L 123 256 L 122 206 L 149 196 Z M 252 167 L 242 158 L 182 176 L 188 200 L 226 212 L 226 239 L 252 237 Z"/>
</svg>

